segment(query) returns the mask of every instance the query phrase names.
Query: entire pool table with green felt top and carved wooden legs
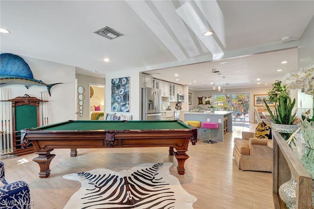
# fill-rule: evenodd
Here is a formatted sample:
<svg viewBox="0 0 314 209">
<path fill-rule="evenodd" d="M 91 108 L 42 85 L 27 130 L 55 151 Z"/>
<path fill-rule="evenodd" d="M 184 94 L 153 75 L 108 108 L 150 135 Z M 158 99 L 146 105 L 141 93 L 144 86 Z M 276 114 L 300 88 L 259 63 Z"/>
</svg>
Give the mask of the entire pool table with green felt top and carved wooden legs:
<svg viewBox="0 0 314 209">
<path fill-rule="evenodd" d="M 189 141 L 195 145 L 197 128 L 182 121 L 83 121 L 62 123 L 25 129 L 21 131 L 21 144 L 32 142 L 33 161 L 40 167 L 39 177 L 50 175 L 50 163 L 55 157 L 53 149 L 70 148 L 71 157 L 77 148 L 169 147 L 169 155 L 178 161 L 178 174 L 184 174 L 185 153 Z M 175 150 L 174 150 L 175 148 Z"/>
</svg>

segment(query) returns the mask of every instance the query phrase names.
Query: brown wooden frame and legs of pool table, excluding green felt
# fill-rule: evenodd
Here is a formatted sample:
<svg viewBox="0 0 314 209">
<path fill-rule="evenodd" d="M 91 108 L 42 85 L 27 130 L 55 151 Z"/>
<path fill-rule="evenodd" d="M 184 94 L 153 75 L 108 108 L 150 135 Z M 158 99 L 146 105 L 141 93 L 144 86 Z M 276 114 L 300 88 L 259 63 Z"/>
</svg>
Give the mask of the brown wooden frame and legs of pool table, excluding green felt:
<svg viewBox="0 0 314 209">
<path fill-rule="evenodd" d="M 77 156 L 77 148 L 126 148 L 126 147 L 169 147 L 169 155 L 178 161 L 178 174 L 184 175 L 184 162 L 189 157 L 185 152 L 191 141 L 195 145 L 197 129 L 177 130 L 123 130 L 114 131 L 113 140 L 108 136 L 110 131 L 42 131 L 26 130 L 26 139 L 34 146 L 33 161 L 40 167 L 39 177 L 50 175 L 50 163 L 55 157 L 53 149 L 70 148 L 71 157 Z M 175 150 L 174 150 L 175 149 Z"/>
</svg>

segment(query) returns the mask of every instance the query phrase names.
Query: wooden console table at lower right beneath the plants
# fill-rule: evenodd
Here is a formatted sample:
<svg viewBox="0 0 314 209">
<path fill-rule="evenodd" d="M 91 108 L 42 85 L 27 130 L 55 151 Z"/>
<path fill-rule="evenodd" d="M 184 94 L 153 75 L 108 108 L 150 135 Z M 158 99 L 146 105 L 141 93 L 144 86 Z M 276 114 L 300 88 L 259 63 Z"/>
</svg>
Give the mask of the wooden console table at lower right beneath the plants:
<svg viewBox="0 0 314 209">
<path fill-rule="evenodd" d="M 292 175 L 297 182 L 296 209 L 312 209 L 312 178 L 277 131 L 273 135 L 273 199 L 275 209 L 286 209 L 279 197 L 279 186 Z"/>
</svg>

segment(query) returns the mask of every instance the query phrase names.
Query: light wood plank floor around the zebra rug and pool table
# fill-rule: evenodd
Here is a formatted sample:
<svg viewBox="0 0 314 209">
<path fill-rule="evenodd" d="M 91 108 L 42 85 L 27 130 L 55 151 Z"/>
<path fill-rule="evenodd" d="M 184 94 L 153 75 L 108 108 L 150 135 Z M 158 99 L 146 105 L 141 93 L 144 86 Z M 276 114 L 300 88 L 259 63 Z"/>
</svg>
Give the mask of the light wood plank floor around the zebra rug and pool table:
<svg viewBox="0 0 314 209">
<path fill-rule="evenodd" d="M 8 182 L 26 181 L 30 186 L 32 209 L 62 209 L 79 189 L 80 183 L 63 179 L 65 174 L 107 168 L 114 171 L 130 169 L 145 162 L 173 162 L 170 168 L 183 188 L 198 200 L 194 209 L 274 209 L 272 175 L 269 172 L 238 170 L 232 157 L 233 138 L 251 128 L 234 126 L 224 142 L 214 144 L 197 142 L 188 147 L 190 158 L 185 161 L 185 175 L 177 174 L 177 160 L 168 155 L 168 148 L 78 149 L 77 157 L 70 157 L 70 149 L 55 149 L 56 154 L 47 179 L 38 177 L 39 165 L 32 159 L 1 156 Z"/>
</svg>

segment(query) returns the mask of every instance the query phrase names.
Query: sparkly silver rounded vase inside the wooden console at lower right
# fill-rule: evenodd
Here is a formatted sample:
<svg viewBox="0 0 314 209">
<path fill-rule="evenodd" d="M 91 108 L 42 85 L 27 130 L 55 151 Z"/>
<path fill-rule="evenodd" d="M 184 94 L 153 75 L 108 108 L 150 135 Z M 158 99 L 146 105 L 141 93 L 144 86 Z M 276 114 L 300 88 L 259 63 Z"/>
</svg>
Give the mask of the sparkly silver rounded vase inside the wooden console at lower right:
<svg viewBox="0 0 314 209">
<path fill-rule="evenodd" d="M 293 209 L 296 205 L 296 180 L 291 172 L 291 179 L 281 184 L 278 189 L 280 198 L 286 203 L 288 209 Z"/>
</svg>

